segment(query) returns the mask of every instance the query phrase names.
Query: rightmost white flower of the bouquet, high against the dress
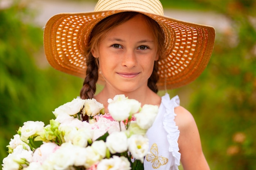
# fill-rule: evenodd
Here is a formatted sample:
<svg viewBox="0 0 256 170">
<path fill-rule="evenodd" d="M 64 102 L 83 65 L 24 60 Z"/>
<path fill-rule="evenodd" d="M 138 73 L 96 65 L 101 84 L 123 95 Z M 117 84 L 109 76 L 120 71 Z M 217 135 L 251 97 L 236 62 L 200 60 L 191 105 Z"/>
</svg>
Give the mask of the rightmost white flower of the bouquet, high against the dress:
<svg viewBox="0 0 256 170">
<path fill-rule="evenodd" d="M 136 118 L 137 124 L 142 129 L 150 128 L 158 113 L 158 106 L 145 104 L 139 113 L 136 113 L 134 117 Z"/>
</svg>

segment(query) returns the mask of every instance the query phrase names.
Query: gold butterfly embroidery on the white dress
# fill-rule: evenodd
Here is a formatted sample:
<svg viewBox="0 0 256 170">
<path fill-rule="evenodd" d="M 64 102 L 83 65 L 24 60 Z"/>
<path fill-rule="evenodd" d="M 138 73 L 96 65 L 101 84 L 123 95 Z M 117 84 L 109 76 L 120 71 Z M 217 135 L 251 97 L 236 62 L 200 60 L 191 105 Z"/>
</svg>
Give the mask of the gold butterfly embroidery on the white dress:
<svg viewBox="0 0 256 170">
<path fill-rule="evenodd" d="M 152 168 L 157 169 L 160 166 L 166 165 L 168 159 L 166 157 L 158 156 L 157 144 L 153 144 L 150 148 L 150 153 L 146 155 L 146 160 L 152 163 Z"/>
</svg>

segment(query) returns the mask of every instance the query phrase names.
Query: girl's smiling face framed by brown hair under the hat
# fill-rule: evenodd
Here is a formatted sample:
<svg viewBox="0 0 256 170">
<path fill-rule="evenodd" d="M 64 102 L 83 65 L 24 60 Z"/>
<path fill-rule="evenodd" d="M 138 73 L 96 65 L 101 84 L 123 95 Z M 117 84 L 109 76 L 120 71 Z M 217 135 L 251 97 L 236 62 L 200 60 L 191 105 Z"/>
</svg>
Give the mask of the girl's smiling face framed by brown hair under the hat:
<svg viewBox="0 0 256 170">
<path fill-rule="evenodd" d="M 145 16 L 139 14 L 106 33 L 92 55 L 99 58 L 99 69 L 106 87 L 118 93 L 147 88 L 157 42 Z"/>
</svg>

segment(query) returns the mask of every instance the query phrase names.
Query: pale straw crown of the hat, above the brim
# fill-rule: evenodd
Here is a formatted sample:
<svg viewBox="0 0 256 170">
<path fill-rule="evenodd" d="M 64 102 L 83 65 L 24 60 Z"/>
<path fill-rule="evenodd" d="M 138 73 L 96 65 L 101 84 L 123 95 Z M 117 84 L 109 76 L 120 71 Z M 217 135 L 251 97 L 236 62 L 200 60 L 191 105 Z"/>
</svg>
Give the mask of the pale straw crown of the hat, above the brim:
<svg viewBox="0 0 256 170">
<path fill-rule="evenodd" d="M 164 10 L 159 0 L 99 0 L 94 11 L 138 11 L 164 15 Z"/>
</svg>

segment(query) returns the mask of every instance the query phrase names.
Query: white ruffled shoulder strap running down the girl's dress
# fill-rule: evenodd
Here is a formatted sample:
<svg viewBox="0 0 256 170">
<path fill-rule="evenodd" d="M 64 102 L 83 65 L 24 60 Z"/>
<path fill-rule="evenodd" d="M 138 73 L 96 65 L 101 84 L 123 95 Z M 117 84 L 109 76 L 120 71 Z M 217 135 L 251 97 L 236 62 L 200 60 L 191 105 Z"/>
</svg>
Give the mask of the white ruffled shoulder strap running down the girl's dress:
<svg viewBox="0 0 256 170">
<path fill-rule="evenodd" d="M 164 114 L 163 125 L 164 129 L 167 132 L 167 140 L 169 143 L 168 151 L 172 153 L 175 159 L 175 170 L 178 170 L 178 166 L 180 165 L 180 152 L 178 146 L 178 138 L 180 136 L 180 130 L 174 121 L 176 114 L 174 113 L 174 108 L 180 106 L 180 99 L 176 95 L 172 99 L 168 93 L 166 93 L 162 97 L 162 104 L 164 108 L 166 108 L 166 112 Z"/>
</svg>

